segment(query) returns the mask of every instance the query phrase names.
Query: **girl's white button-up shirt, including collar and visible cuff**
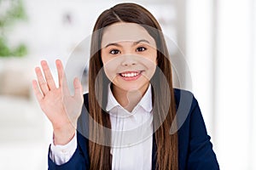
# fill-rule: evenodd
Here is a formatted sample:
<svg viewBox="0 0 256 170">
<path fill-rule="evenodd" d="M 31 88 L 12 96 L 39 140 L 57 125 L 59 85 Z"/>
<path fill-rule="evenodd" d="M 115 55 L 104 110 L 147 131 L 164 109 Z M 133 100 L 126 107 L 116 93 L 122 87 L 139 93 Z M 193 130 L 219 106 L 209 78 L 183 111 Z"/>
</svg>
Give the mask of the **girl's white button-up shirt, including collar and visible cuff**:
<svg viewBox="0 0 256 170">
<path fill-rule="evenodd" d="M 151 85 L 131 111 L 126 111 L 113 97 L 108 86 L 108 104 L 112 126 L 112 169 L 151 169 L 153 115 Z M 66 145 L 50 145 L 50 158 L 61 165 L 69 161 L 77 148 L 77 137 Z"/>
</svg>

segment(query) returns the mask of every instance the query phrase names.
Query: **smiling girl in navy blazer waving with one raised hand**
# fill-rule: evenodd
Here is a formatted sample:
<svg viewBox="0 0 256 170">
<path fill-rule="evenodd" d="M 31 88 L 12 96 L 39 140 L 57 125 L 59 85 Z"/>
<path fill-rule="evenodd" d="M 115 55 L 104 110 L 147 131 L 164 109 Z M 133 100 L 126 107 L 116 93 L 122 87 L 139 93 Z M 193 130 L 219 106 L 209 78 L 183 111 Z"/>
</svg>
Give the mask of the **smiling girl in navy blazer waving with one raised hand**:
<svg viewBox="0 0 256 170">
<path fill-rule="evenodd" d="M 58 88 L 46 61 L 44 76 L 35 69 L 34 93 L 54 129 L 49 169 L 219 169 L 196 99 L 172 88 L 166 42 L 147 9 L 105 10 L 90 56 L 89 94 L 78 78 L 69 93 L 60 60 Z"/>
</svg>

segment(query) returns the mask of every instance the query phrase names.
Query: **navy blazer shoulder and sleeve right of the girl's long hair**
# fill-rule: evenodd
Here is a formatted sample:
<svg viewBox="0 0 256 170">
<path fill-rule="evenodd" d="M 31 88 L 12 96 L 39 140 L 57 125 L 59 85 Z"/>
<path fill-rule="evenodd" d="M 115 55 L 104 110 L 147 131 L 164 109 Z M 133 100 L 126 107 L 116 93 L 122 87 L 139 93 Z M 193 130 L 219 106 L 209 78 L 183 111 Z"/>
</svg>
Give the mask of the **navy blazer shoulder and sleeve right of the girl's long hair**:
<svg viewBox="0 0 256 170">
<path fill-rule="evenodd" d="M 174 89 L 177 104 L 178 156 L 181 169 L 219 169 L 194 94 Z"/>
</svg>

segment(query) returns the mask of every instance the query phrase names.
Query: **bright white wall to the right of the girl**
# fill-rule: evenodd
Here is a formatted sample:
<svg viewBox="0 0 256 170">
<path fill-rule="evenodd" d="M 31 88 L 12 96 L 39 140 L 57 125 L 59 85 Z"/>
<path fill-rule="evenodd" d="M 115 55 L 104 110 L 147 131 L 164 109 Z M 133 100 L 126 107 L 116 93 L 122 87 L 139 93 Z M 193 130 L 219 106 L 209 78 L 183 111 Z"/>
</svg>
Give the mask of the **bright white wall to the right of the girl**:
<svg viewBox="0 0 256 170">
<path fill-rule="evenodd" d="M 193 89 L 221 169 L 256 166 L 255 9 L 250 0 L 188 1 Z"/>
</svg>

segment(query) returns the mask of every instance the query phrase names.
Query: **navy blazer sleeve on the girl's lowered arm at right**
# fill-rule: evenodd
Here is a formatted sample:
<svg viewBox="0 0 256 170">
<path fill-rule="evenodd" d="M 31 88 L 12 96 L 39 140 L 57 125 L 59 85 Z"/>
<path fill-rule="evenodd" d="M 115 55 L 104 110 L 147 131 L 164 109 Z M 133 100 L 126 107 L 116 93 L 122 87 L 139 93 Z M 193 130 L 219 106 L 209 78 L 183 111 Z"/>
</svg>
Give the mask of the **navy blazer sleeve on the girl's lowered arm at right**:
<svg viewBox="0 0 256 170">
<path fill-rule="evenodd" d="M 218 161 L 197 100 L 193 96 L 189 119 L 188 169 L 218 170 Z"/>
</svg>

